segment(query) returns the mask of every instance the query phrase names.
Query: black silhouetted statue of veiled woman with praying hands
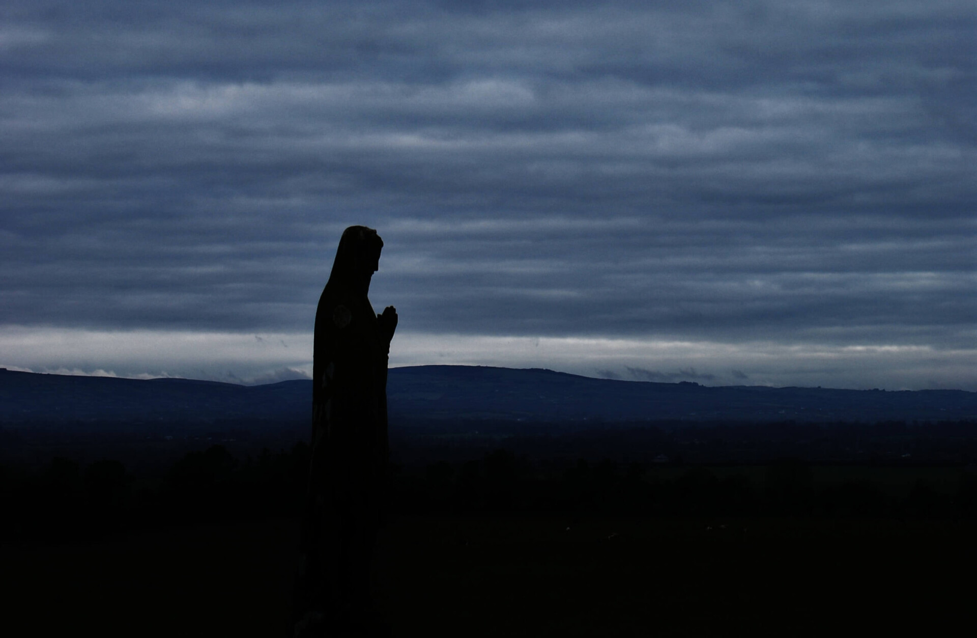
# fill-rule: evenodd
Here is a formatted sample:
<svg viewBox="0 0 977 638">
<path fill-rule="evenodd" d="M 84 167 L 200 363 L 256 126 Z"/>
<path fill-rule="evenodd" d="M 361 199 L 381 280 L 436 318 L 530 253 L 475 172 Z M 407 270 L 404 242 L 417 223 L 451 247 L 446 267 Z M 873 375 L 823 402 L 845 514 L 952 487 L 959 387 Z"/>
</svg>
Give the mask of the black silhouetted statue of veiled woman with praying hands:
<svg viewBox="0 0 977 638">
<path fill-rule="evenodd" d="M 387 359 L 397 311 L 366 294 L 383 241 L 343 232 L 316 311 L 312 462 L 295 636 L 357 635 L 371 623 L 370 567 L 387 476 Z"/>
</svg>

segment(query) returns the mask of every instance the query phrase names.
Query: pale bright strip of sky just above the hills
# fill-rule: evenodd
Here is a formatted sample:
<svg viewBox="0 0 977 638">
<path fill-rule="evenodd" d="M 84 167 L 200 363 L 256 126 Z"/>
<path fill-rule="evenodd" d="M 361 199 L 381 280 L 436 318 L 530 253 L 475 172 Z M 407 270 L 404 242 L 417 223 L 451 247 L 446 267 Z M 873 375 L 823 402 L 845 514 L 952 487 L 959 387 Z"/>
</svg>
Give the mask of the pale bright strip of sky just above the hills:
<svg viewBox="0 0 977 638">
<path fill-rule="evenodd" d="M 177 376 L 232 383 L 309 378 L 310 332 L 240 334 L 7 327 L 0 365 L 59 374 Z M 586 337 L 398 333 L 393 367 L 546 367 L 635 381 L 977 391 L 977 349 L 929 346 L 721 343 Z"/>
</svg>

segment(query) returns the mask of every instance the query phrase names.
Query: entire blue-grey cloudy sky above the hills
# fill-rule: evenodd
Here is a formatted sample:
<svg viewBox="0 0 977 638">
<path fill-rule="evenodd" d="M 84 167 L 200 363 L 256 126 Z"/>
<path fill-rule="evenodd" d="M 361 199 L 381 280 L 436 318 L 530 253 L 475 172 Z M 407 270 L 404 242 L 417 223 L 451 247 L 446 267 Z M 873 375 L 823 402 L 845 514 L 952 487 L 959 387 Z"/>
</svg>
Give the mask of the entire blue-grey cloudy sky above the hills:
<svg viewBox="0 0 977 638">
<path fill-rule="evenodd" d="M 975 43 L 972 0 L 5 0 L 0 365 L 306 374 L 364 224 L 393 365 L 977 390 Z"/>
</svg>

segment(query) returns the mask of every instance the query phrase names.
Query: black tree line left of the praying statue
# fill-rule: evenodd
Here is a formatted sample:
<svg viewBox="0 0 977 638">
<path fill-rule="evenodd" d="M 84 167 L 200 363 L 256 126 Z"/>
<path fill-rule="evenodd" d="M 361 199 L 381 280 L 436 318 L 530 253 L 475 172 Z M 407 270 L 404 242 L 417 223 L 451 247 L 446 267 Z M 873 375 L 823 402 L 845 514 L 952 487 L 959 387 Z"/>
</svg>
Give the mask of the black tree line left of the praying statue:
<svg viewBox="0 0 977 638">
<path fill-rule="evenodd" d="M 0 466 L 6 539 L 97 540 L 119 532 L 295 516 L 309 448 L 235 458 L 226 447 L 191 451 L 161 479 L 133 476 L 117 460 L 81 466 L 62 456 L 44 468 Z"/>
</svg>

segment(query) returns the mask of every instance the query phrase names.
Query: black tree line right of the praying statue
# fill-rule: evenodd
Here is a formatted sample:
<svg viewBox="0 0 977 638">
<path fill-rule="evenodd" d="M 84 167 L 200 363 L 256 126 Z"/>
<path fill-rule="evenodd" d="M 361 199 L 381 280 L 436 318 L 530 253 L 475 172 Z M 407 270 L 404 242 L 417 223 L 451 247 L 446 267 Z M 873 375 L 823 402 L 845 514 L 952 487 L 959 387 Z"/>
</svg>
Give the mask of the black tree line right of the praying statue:
<svg viewBox="0 0 977 638">
<path fill-rule="evenodd" d="M 851 467 L 851 466 L 848 466 Z M 394 483 L 403 511 L 553 511 L 639 516 L 801 516 L 973 520 L 977 471 L 960 468 L 953 485 L 917 479 L 892 495 L 873 466 L 854 478 L 818 480 L 810 464 L 783 459 L 760 467 L 671 468 L 577 459 L 542 469 L 497 449 L 481 460 L 440 461 Z M 720 471 L 722 470 L 722 471 Z M 938 489 L 939 488 L 939 489 Z"/>
</svg>

